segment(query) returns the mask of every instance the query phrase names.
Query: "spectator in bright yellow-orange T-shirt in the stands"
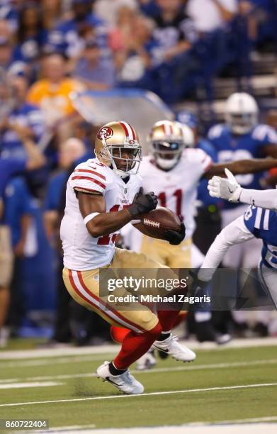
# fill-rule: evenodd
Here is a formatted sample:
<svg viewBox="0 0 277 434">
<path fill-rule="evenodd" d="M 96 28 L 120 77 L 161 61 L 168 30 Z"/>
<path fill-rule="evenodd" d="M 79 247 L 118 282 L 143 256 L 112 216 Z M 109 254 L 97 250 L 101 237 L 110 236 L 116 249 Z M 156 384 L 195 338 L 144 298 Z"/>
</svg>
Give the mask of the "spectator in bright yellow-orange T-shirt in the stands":
<svg viewBox="0 0 277 434">
<path fill-rule="evenodd" d="M 45 78 L 30 87 L 28 101 L 40 106 L 48 128 L 56 132 L 60 139 L 68 138 L 71 135 L 70 117 L 74 114 L 69 95 L 84 87 L 77 80 L 67 78 L 67 63 L 62 55 L 47 55 L 42 65 Z"/>
</svg>

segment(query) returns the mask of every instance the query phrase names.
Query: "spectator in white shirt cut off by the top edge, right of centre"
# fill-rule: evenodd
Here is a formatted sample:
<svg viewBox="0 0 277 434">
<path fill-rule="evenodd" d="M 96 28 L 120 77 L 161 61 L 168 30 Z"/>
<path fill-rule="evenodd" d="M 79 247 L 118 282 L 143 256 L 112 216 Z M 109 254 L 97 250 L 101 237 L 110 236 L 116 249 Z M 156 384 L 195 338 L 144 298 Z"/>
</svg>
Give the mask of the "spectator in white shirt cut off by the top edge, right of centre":
<svg viewBox="0 0 277 434">
<path fill-rule="evenodd" d="M 237 13 L 237 0 L 188 0 L 186 11 L 200 33 L 225 28 Z"/>
</svg>

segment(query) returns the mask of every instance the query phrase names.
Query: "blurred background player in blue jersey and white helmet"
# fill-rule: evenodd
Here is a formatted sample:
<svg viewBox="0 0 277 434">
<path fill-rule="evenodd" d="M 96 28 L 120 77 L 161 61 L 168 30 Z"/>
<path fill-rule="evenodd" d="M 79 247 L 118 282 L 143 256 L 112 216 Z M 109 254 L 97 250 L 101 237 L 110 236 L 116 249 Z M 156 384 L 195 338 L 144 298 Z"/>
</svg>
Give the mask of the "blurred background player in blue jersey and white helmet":
<svg viewBox="0 0 277 434">
<path fill-rule="evenodd" d="M 245 93 L 232 94 L 226 101 L 225 123 L 213 126 L 208 138 L 217 149 L 218 161 L 277 155 L 277 134 L 270 126 L 258 123 L 259 109 L 254 98 Z M 247 189 L 261 189 L 263 173 L 237 177 Z M 225 202 L 222 227 L 242 215 L 247 207 Z M 259 243 L 254 239 L 247 245 L 236 245 L 225 255 L 225 267 L 255 267 L 259 259 Z"/>
</svg>

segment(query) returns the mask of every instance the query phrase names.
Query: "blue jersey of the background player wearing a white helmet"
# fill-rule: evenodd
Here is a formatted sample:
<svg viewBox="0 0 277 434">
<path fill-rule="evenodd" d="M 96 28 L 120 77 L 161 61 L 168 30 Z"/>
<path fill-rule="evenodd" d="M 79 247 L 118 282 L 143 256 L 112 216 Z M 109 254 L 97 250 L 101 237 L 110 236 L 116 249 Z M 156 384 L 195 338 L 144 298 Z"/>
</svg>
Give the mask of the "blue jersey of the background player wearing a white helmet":
<svg viewBox="0 0 277 434">
<path fill-rule="evenodd" d="M 226 124 L 217 124 L 210 128 L 208 139 L 217 150 L 218 162 L 247 160 L 264 157 L 263 148 L 268 144 L 277 145 L 277 133 L 268 125 L 256 125 L 249 133 L 234 135 Z M 259 180 L 263 173 L 237 175 L 236 179 L 247 189 L 261 189 Z M 225 208 L 234 208 L 239 204 L 225 201 Z"/>
</svg>

